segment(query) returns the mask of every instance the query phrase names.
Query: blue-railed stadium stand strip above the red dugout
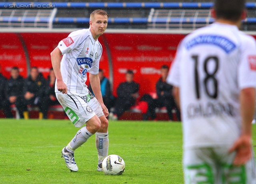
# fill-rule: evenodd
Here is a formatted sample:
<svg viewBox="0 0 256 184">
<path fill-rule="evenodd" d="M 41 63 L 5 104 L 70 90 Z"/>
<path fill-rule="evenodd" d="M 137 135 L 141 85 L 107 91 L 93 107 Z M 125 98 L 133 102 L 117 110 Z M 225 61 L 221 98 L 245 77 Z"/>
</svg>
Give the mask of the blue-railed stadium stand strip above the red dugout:
<svg viewBox="0 0 256 184">
<path fill-rule="evenodd" d="M 104 9 L 112 29 L 194 30 L 214 21 L 211 2 L 0 2 L 0 27 L 88 27 L 90 12 Z M 255 31 L 255 2 L 246 3 L 249 17 L 242 30 Z"/>
</svg>

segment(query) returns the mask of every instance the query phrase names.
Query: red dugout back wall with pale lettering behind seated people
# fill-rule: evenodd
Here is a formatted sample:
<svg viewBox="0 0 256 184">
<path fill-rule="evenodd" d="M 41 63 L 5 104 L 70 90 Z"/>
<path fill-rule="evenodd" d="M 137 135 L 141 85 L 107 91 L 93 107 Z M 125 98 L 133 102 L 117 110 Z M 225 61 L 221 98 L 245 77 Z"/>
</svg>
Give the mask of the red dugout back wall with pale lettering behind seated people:
<svg viewBox="0 0 256 184">
<path fill-rule="evenodd" d="M 47 78 L 52 67 L 50 53 L 68 35 L 69 33 L 0 33 L 2 74 L 9 78 L 10 69 L 17 66 L 20 74 L 27 77 L 26 62 L 29 61 L 30 67 L 38 67 Z M 185 34 L 164 33 L 104 33 L 100 36 L 99 41 L 103 47 L 100 69 L 104 70 L 105 76 L 110 77 L 111 61 L 113 94 L 116 96 L 116 88 L 125 81 L 125 72 L 129 69 L 134 71 L 134 80 L 140 84 L 141 96 L 146 92 L 154 92 L 155 84 L 160 78 L 160 67 L 171 65 L 178 43 L 184 37 Z M 256 36 L 253 37 L 256 39 Z"/>
</svg>

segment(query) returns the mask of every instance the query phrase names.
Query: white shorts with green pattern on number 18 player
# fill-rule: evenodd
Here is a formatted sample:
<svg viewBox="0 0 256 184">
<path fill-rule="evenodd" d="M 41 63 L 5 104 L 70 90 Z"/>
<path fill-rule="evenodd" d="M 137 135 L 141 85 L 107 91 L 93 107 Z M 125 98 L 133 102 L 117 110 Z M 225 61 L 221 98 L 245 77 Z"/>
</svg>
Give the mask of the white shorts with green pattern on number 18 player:
<svg viewBox="0 0 256 184">
<path fill-rule="evenodd" d="M 235 153 L 228 147 L 185 149 L 185 184 L 256 184 L 254 152 L 244 166 L 233 166 Z"/>
</svg>

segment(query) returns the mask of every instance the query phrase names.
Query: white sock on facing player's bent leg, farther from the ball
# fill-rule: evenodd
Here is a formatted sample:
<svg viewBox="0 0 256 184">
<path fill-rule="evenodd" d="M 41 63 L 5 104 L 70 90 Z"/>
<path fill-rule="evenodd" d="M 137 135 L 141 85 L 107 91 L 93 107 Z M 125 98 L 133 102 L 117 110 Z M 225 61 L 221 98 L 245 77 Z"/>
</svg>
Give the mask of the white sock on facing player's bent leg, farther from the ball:
<svg viewBox="0 0 256 184">
<path fill-rule="evenodd" d="M 66 150 L 69 152 L 74 152 L 78 147 L 84 144 L 93 134 L 90 133 L 86 127 L 82 127 L 76 133 L 75 137 L 68 143 Z"/>
</svg>

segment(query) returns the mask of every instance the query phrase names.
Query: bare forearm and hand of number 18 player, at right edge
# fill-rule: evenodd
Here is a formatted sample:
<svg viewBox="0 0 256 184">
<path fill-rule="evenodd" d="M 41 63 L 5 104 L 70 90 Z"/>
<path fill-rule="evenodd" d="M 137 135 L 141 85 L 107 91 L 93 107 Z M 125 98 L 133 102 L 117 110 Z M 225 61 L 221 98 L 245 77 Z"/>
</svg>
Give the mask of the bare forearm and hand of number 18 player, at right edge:
<svg viewBox="0 0 256 184">
<path fill-rule="evenodd" d="M 230 148 L 236 151 L 234 165 L 242 165 L 251 157 L 252 119 L 254 116 L 255 89 L 245 88 L 240 93 L 240 111 L 242 117 L 242 134 Z"/>
</svg>

